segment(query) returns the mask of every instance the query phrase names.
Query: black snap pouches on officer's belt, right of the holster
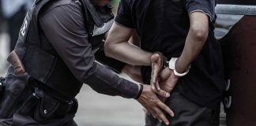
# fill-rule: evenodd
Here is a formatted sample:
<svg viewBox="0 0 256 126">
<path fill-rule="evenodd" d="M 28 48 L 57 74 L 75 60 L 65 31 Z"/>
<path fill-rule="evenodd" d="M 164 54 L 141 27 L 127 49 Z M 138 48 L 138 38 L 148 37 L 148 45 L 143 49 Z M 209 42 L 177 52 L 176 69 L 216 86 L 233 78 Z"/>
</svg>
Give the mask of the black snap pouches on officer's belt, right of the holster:
<svg viewBox="0 0 256 126">
<path fill-rule="evenodd" d="M 74 98 L 70 102 L 60 102 L 57 99 L 47 95 L 43 90 L 36 87 L 34 93 L 24 102 L 20 113 L 29 113 L 31 107 L 34 108 L 33 117 L 38 122 L 53 120 L 65 117 L 67 113 L 77 113 L 77 99 Z M 33 102 L 37 101 L 36 105 Z"/>
</svg>

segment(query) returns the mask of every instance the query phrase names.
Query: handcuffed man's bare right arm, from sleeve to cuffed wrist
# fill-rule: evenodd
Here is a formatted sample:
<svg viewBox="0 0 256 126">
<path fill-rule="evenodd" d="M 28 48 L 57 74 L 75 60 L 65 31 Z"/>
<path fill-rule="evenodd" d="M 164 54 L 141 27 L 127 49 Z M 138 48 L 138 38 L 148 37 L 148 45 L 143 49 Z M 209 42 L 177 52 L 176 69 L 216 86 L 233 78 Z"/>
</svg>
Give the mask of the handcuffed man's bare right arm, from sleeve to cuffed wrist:
<svg viewBox="0 0 256 126">
<path fill-rule="evenodd" d="M 175 64 L 175 70 L 183 73 L 201 52 L 209 33 L 209 17 L 200 11 L 190 13 L 190 31 L 183 53 Z"/>
</svg>

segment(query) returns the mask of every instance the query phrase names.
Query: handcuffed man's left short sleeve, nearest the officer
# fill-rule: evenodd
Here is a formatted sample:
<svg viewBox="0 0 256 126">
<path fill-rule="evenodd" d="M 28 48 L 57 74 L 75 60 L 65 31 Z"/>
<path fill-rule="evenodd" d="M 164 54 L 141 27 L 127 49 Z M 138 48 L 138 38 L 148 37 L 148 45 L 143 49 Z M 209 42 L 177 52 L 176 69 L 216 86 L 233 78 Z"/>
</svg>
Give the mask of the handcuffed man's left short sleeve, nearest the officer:
<svg viewBox="0 0 256 126">
<path fill-rule="evenodd" d="M 119 2 L 119 9 L 115 17 L 115 22 L 128 28 L 134 28 L 134 23 L 131 17 L 130 2 L 130 0 L 121 0 Z"/>
</svg>

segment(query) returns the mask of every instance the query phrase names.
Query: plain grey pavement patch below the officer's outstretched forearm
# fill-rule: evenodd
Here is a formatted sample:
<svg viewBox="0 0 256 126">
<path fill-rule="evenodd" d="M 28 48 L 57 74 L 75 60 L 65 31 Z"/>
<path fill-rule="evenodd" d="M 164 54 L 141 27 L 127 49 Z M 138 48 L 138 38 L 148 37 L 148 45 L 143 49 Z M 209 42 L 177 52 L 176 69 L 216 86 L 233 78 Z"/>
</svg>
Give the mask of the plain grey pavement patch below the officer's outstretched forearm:
<svg viewBox="0 0 256 126">
<path fill-rule="evenodd" d="M 79 109 L 75 120 L 84 126 L 142 126 L 144 113 L 134 99 L 97 94 L 90 87 L 82 87 L 77 96 Z"/>
</svg>

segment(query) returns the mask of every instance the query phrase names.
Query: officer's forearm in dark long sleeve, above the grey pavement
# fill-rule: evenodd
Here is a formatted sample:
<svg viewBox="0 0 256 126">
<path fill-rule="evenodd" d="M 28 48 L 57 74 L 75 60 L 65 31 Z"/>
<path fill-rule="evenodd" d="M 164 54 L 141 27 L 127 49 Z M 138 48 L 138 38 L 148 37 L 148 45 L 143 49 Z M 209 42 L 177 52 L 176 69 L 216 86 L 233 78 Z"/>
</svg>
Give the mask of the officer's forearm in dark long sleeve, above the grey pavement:
<svg viewBox="0 0 256 126">
<path fill-rule="evenodd" d="M 137 84 L 120 78 L 99 64 L 92 75 L 84 80 L 84 83 L 100 94 L 119 95 L 124 98 L 135 98 L 139 90 Z"/>
</svg>

